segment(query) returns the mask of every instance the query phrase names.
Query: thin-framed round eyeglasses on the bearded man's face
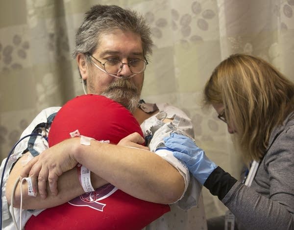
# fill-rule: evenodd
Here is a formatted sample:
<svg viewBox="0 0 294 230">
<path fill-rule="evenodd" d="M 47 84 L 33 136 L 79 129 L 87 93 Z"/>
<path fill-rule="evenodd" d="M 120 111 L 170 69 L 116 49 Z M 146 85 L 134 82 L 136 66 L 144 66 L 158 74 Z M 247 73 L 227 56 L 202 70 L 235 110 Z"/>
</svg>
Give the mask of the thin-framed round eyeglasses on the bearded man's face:
<svg viewBox="0 0 294 230">
<path fill-rule="evenodd" d="M 93 56 L 91 55 L 91 57 Z M 109 74 L 117 74 L 121 72 L 123 70 L 123 65 L 127 65 L 132 73 L 142 73 L 145 71 L 146 66 L 148 65 L 145 57 L 145 60 L 136 58 L 129 61 L 128 63 L 123 63 L 118 59 L 109 59 L 106 62 L 102 63 L 95 57 L 93 58 L 98 61 L 104 67 L 104 70 Z"/>
</svg>

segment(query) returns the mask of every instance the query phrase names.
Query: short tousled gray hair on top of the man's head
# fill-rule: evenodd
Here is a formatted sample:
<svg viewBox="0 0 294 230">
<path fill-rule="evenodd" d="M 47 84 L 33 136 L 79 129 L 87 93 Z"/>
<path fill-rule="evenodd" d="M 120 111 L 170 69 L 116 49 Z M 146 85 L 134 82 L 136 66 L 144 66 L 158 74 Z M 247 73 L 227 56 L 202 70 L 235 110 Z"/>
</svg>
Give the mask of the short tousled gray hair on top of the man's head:
<svg viewBox="0 0 294 230">
<path fill-rule="evenodd" d="M 84 22 L 76 32 L 72 56 L 75 58 L 78 53 L 92 55 L 99 45 L 101 35 L 114 29 L 139 34 L 144 55 L 152 53 L 150 28 L 141 15 L 117 5 L 94 5 L 86 12 Z"/>
</svg>

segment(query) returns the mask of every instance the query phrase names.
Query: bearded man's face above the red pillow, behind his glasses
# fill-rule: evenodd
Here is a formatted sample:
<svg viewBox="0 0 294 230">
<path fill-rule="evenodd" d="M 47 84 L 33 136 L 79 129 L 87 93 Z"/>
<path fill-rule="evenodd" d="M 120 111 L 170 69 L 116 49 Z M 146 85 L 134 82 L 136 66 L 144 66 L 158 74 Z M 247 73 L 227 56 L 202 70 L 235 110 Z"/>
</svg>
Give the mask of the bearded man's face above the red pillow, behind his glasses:
<svg viewBox="0 0 294 230">
<path fill-rule="evenodd" d="M 144 60 L 141 37 L 130 31 L 114 30 L 112 33 L 100 37 L 98 48 L 92 56 L 102 64 L 109 59 L 118 59 L 123 63 L 137 58 Z M 92 61 L 104 69 L 103 65 L 95 59 Z M 122 78 L 116 78 L 91 63 L 87 65 L 85 72 L 81 72 L 81 75 L 84 80 L 87 80 L 88 93 L 105 95 L 127 108 L 137 106 L 143 86 L 144 72 L 136 74 L 132 78 L 123 79 L 123 77 L 133 75 L 128 65 L 123 65 L 122 71 L 115 74 Z M 129 104 L 133 105 L 129 106 Z M 133 112 L 134 108 L 128 109 Z"/>
</svg>

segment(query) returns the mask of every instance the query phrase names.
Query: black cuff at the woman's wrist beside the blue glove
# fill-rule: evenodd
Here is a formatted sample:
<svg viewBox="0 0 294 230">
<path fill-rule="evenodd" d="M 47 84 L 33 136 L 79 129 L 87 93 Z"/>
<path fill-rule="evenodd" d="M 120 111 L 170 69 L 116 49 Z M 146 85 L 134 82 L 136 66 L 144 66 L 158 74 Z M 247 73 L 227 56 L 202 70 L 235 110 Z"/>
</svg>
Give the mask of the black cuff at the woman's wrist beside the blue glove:
<svg viewBox="0 0 294 230">
<path fill-rule="evenodd" d="M 218 196 L 222 200 L 236 182 L 235 178 L 218 166 L 203 185 L 212 195 Z"/>
</svg>

